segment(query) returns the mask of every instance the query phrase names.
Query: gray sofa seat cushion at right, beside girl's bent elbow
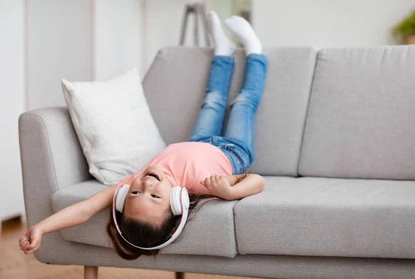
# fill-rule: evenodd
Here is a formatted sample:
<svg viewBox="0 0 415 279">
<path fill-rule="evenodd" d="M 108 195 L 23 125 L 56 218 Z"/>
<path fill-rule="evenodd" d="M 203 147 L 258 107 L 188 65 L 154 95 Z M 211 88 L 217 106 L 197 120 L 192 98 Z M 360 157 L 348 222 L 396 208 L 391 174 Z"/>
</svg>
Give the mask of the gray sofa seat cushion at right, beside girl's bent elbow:
<svg viewBox="0 0 415 279">
<path fill-rule="evenodd" d="M 415 258 L 415 181 L 266 179 L 234 208 L 239 253 Z"/>
</svg>

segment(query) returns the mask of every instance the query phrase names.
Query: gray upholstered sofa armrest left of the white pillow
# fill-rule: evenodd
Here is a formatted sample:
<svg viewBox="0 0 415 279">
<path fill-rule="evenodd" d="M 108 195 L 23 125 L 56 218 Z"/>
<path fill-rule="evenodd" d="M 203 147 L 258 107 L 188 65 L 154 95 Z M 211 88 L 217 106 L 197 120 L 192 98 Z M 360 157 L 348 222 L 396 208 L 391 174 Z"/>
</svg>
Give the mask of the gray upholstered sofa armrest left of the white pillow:
<svg viewBox="0 0 415 279">
<path fill-rule="evenodd" d="M 53 214 L 54 192 L 91 175 L 66 107 L 21 114 L 19 144 L 26 218 L 33 226 Z"/>
</svg>

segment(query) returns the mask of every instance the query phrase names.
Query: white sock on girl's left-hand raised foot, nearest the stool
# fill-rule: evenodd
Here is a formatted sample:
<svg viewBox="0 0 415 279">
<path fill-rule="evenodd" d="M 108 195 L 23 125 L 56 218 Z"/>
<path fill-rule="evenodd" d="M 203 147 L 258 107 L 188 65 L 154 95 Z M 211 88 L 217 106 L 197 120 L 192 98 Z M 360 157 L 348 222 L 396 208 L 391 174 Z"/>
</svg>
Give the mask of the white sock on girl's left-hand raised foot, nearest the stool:
<svg viewBox="0 0 415 279">
<path fill-rule="evenodd" d="M 221 21 L 216 12 L 209 12 L 207 21 L 209 33 L 214 41 L 214 55 L 232 55 L 235 51 L 235 45 L 223 32 Z"/>
</svg>

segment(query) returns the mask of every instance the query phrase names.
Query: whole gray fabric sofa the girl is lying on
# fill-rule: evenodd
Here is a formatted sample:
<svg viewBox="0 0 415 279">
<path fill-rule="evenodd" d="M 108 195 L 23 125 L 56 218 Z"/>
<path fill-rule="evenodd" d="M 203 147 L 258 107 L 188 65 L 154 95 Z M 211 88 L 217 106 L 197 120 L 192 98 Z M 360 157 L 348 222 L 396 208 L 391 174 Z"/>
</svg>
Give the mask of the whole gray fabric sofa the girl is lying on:
<svg viewBox="0 0 415 279">
<path fill-rule="evenodd" d="M 36 258 L 178 277 L 415 278 L 415 46 L 264 53 L 251 168 L 266 177 L 263 192 L 208 202 L 156 260 L 116 255 L 104 232 L 109 210 L 44 235 Z M 167 144 L 190 136 L 212 55 L 164 48 L 145 75 Z M 239 50 L 230 100 L 243 63 Z M 104 188 L 88 172 L 66 107 L 22 114 L 19 136 L 28 226 Z"/>
</svg>

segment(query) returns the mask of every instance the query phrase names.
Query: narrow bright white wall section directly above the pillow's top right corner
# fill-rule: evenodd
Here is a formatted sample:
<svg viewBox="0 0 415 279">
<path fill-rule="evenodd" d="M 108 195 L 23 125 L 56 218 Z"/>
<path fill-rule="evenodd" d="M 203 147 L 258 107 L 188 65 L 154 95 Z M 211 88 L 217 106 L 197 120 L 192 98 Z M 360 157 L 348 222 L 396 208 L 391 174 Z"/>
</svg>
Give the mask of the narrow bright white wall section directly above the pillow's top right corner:
<svg viewBox="0 0 415 279">
<path fill-rule="evenodd" d="M 150 0 L 151 1 L 151 0 Z M 93 79 L 107 80 L 141 64 L 141 10 L 139 0 L 95 0 L 93 19 Z"/>
</svg>

